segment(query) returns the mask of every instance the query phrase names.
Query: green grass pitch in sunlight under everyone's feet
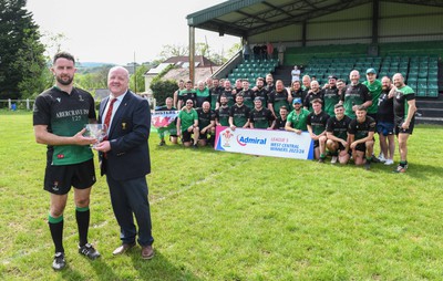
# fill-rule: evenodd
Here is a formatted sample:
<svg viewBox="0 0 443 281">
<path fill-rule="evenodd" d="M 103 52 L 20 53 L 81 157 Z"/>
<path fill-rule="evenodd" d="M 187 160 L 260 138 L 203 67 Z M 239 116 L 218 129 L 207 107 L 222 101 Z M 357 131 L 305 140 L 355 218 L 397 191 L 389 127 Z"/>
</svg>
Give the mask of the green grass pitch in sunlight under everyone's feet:
<svg viewBox="0 0 443 281">
<path fill-rule="evenodd" d="M 112 256 L 119 227 L 99 178 L 90 242 L 102 257 L 90 261 L 78 253 L 71 194 L 64 214 L 68 267 L 54 272 L 49 194 L 42 189 L 45 147 L 34 142 L 31 114 L 2 112 L 0 279 L 442 280 L 441 139 L 443 127 L 416 126 L 410 168 L 398 175 L 382 164 L 367 171 L 158 147 L 152 134 L 147 179 L 156 257 L 142 260 L 140 248 Z"/>
</svg>

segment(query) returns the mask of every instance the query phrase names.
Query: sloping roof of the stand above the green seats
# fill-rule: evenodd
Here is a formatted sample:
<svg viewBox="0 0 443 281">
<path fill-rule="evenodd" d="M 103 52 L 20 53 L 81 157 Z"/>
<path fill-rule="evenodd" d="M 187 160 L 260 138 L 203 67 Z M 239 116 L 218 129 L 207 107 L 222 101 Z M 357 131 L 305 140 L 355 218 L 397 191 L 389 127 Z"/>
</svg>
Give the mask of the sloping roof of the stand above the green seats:
<svg viewBox="0 0 443 281">
<path fill-rule="evenodd" d="M 230 0 L 186 19 L 189 27 L 248 38 L 371 2 L 443 7 L 443 0 Z"/>
</svg>

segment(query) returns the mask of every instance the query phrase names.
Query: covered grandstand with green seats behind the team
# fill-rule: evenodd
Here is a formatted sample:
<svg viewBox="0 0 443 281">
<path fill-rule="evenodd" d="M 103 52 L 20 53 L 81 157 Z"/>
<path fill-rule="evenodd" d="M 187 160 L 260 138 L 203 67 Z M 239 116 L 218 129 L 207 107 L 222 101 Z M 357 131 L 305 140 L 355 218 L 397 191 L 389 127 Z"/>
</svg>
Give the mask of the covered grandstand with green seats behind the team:
<svg viewBox="0 0 443 281">
<path fill-rule="evenodd" d="M 194 28 L 241 38 L 250 46 L 272 42 L 271 60 L 241 60 L 241 52 L 215 75 L 248 79 L 270 72 L 290 83 L 290 70 L 321 83 L 374 67 L 379 77 L 400 72 L 415 90 L 421 122 L 443 124 L 443 1 L 436 0 L 231 0 L 187 17 Z M 277 45 L 286 46 L 282 64 Z M 364 79 L 364 75 L 362 75 Z M 421 115 L 421 116 L 420 116 Z"/>
</svg>

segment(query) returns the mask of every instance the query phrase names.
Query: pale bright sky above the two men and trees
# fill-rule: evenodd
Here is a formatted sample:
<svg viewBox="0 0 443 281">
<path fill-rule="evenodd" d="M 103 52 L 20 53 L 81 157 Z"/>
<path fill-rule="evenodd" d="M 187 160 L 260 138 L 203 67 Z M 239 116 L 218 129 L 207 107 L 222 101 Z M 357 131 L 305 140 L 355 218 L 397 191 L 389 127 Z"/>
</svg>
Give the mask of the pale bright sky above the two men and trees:
<svg viewBox="0 0 443 281">
<path fill-rule="evenodd" d="M 163 45 L 188 45 L 186 15 L 225 0 L 28 0 L 27 10 L 43 34 L 63 34 L 61 49 L 80 62 L 126 64 L 158 59 Z M 195 29 L 195 42 L 217 53 L 239 42 L 236 37 Z M 53 56 L 55 49 L 49 50 Z"/>
</svg>

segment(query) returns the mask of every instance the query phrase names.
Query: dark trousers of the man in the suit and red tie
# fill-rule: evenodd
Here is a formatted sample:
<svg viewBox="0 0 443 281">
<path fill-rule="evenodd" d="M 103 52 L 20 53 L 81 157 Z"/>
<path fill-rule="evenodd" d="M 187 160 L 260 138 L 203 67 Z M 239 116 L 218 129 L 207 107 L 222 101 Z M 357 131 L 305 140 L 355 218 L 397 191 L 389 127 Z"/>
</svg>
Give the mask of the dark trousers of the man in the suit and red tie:
<svg viewBox="0 0 443 281">
<path fill-rule="evenodd" d="M 152 223 L 150 201 L 147 200 L 147 183 L 145 177 L 115 180 L 106 176 L 110 187 L 111 202 L 120 226 L 120 238 L 123 243 L 135 242 L 137 235 L 134 216 L 138 226 L 137 242 L 144 247 L 152 244 Z M 133 216 L 134 215 L 134 216 Z"/>
</svg>

